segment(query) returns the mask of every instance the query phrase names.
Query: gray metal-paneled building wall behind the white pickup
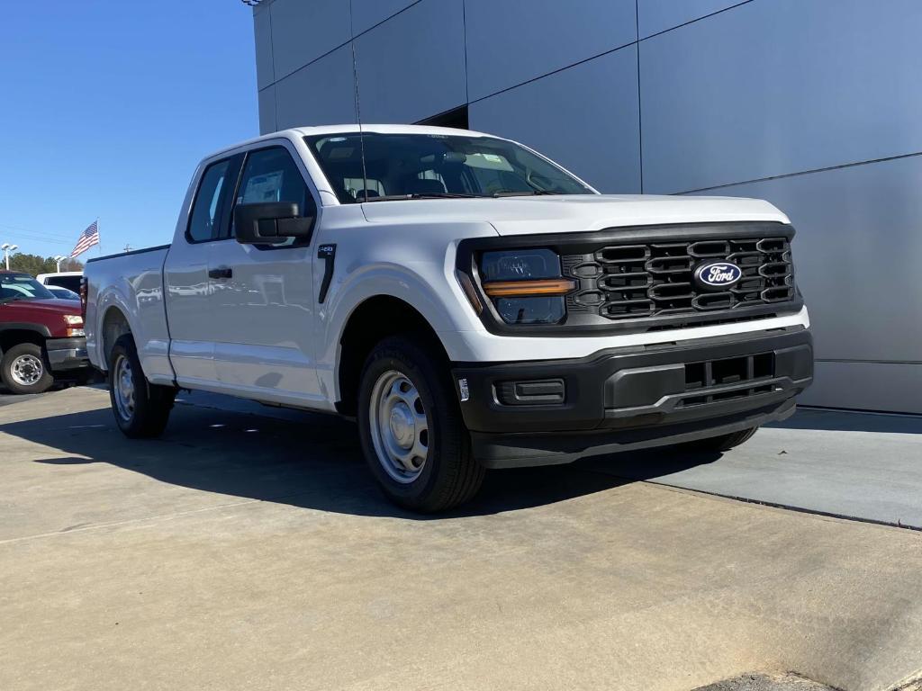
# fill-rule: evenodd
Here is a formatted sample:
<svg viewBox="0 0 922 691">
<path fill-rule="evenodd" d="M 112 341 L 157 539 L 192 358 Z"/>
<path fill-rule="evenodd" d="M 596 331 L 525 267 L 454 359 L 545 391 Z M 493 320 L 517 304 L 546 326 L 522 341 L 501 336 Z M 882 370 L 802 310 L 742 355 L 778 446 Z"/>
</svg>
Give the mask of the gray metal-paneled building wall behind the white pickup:
<svg viewBox="0 0 922 691">
<path fill-rule="evenodd" d="M 358 75 L 365 123 L 467 104 L 603 192 L 772 201 L 805 402 L 922 413 L 919 0 L 269 0 L 254 29 L 264 133 L 356 122 Z"/>
</svg>

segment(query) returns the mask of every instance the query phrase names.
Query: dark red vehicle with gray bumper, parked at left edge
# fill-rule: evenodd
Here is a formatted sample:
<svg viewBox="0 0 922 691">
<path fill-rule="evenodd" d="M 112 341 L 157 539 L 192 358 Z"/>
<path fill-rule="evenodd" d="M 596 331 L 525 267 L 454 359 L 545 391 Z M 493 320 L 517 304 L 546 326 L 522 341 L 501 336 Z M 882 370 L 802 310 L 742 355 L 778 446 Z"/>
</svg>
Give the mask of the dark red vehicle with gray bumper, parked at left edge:
<svg viewBox="0 0 922 691">
<path fill-rule="evenodd" d="M 28 274 L 0 271 L 0 381 L 14 393 L 40 393 L 56 379 L 91 371 L 76 300 L 56 299 Z"/>
</svg>

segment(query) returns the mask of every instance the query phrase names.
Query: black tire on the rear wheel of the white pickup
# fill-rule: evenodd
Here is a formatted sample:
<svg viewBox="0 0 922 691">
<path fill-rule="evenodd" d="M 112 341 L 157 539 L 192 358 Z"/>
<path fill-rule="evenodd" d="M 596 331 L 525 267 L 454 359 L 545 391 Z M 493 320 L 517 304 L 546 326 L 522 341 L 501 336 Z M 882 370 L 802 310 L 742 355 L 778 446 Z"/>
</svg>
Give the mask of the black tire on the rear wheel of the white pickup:
<svg viewBox="0 0 922 691">
<path fill-rule="evenodd" d="M 127 370 L 123 370 L 122 363 Z M 133 383 L 132 405 L 120 403 L 120 393 L 116 392 L 116 378 L 124 373 Z M 135 340 L 130 334 L 120 336 L 109 357 L 109 400 L 112 403 L 112 415 L 115 424 L 125 437 L 146 439 L 159 437 L 167 426 L 176 390 L 169 386 L 151 384 L 141 369 L 141 360 L 137 357 Z"/>
</svg>

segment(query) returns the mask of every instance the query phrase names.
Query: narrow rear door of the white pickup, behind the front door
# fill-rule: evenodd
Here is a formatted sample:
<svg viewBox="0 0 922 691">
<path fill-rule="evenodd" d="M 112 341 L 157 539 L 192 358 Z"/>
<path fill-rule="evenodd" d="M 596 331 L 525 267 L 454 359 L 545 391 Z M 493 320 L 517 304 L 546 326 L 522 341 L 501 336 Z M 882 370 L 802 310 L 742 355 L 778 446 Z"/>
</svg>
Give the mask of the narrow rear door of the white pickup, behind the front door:
<svg viewBox="0 0 922 691">
<path fill-rule="evenodd" d="M 180 386 L 211 388 L 218 376 L 214 363 L 214 320 L 209 306 L 208 254 L 227 218 L 242 155 L 205 165 L 192 192 L 191 208 L 179 221 L 163 266 L 170 360 Z M 183 228 L 184 225 L 184 228 Z"/>
</svg>

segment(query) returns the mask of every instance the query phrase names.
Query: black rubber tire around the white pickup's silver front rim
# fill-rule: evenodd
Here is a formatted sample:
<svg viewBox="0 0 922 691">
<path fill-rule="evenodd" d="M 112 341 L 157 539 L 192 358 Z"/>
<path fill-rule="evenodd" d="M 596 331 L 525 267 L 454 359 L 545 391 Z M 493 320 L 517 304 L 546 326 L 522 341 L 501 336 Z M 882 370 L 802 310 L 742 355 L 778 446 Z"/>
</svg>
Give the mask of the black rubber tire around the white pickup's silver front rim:
<svg viewBox="0 0 922 691">
<path fill-rule="evenodd" d="M 385 338 L 365 361 L 359 389 L 359 434 L 372 474 L 387 498 L 405 509 L 424 513 L 451 509 L 470 500 L 477 494 L 486 473 L 471 454 L 470 434 L 461 417 L 448 363 L 441 354 L 432 355 L 438 353 L 438 347 L 424 336 Z M 384 432 L 380 431 L 377 419 L 372 419 L 380 419 L 384 411 L 376 387 L 387 381 L 392 372 L 399 373 L 415 387 L 409 395 L 418 394 L 422 409 L 417 408 L 416 412 L 428 425 L 424 462 L 415 471 L 417 474 L 411 471 L 403 481 L 395 479 L 402 470 L 395 470 L 394 463 L 388 463 L 387 452 L 379 455 L 375 444 L 378 449 L 382 447 Z M 377 413 L 372 413 L 372 395 L 379 401 Z M 420 436 L 415 427 L 410 434 Z"/>
</svg>

